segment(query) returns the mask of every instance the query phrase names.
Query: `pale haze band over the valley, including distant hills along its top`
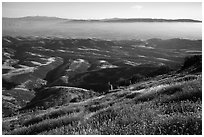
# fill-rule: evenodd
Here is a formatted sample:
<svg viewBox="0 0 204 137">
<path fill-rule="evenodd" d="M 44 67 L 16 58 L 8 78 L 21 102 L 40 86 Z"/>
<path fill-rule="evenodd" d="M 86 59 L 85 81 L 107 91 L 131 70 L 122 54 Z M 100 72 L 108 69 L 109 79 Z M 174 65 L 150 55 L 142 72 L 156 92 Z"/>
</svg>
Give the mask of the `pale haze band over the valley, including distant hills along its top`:
<svg viewBox="0 0 204 137">
<path fill-rule="evenodd" d="M 71 20 L 31 16 L 3 18 L 3 35 L 65 38 L 129 39 L 201 39 L 199 20 L 106 19 Z M 170 28 L 170 29 L 167 29 Z M 170 31 L 171 30 L 171 31 Z"/>
</svg>

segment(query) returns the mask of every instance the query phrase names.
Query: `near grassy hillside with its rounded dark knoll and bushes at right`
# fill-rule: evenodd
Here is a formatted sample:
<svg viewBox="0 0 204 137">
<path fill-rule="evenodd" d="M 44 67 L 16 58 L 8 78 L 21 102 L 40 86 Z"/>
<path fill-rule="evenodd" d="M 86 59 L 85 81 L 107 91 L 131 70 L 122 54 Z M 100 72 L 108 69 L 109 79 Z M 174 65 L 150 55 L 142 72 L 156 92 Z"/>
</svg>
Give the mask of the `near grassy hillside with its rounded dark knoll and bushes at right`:
<svg viewBox="0 0 204 137">
<path fill-rule="evenodd" d="M 195 59 L 194 63 L 189 63 Z M 186 58 L 177 72 L 105 94 L 93 91 L 90 94 L 88 90 L 70 87 L 44 88 L 38 93 L 40 98 L 36 98 L 38 103 L 44 103 L 40 104 L 44 108 L 25 108 L 16 116 L 4 118 L 3 134 L 200 135 L 201 63 L 201 56 L 192 56 Z M 81 93 L 89 95 L 83 95 L 81 100 Z"/>
</svg>

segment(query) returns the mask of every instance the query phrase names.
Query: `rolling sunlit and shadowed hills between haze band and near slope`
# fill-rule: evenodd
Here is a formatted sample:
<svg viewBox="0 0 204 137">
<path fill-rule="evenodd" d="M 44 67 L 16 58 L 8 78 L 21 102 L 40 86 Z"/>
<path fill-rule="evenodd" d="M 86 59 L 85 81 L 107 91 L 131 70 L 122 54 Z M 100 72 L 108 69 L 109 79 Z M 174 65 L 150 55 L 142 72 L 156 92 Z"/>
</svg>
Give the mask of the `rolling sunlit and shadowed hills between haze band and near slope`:
<svg viewBox="0 0 204 137">
<path fill-rule="evenodd" d="M 201 43 L 3 37 L 3 117 L 35 102 L 42 88 L 68 86 L 102 94 L 109 91 L 110 84 L 118 89 L 166 74 L 178 69 L 186 56 L 201 54 Z"/>
</svg>

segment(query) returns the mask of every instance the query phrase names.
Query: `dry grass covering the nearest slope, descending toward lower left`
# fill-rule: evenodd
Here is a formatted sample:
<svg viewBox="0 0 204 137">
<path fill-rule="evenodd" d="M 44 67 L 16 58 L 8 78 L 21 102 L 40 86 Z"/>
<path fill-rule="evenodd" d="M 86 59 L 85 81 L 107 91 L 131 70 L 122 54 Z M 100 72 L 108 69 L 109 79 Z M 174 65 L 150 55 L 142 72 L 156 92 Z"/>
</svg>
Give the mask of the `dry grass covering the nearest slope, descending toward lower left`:
<svg viewBox="0 0 204 137">
<path fill-rule="evenodd" d="M 172 82 L 139 94 L 130 91 L 121 98 L 116 93 L 107 94 L 102 100 L 32 117 L 7 134 L 200 135 L 201 83 L 201 78 Z"/>
</svg>

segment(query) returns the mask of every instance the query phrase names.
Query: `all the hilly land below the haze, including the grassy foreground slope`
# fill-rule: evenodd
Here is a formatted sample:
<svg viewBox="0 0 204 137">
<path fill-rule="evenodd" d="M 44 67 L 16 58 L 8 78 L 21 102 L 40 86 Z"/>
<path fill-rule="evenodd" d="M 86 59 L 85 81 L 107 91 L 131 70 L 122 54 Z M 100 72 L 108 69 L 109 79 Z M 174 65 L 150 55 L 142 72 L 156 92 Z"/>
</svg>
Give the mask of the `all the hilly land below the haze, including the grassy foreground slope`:
<svg viewBox="0 0 204 137">
<path fill-rule="evenodd" d="M 201 40 L 6 36 L 2 54 L 3 134 L 202 133 Z"/>
</svg>

